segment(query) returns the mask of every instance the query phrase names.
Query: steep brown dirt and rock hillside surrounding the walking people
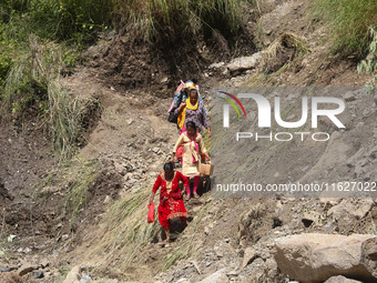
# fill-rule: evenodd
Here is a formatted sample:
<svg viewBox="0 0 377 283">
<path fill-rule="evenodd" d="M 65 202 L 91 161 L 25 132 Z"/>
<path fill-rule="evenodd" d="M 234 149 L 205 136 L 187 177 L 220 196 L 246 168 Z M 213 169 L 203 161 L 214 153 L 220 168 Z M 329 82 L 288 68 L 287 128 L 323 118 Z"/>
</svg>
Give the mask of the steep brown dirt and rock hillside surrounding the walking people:
<svg viewBox="0 0 377 283">
<path fill-rule="evenodd" d="M 121 33 L 91 47 L 85 65 L 62 81 L 72 95 L 100 101 L 72 161 L 58 166 L 41 130 L 1 131 L 0 239 L 7 241 L 0 243 L 0 282 L 376 282 L 375 190 L 368 198 L 349 198 L 345 190 L 316 198 L 223 198 L 216 180 L 202 178 L 201 198 L 185 202 L 187 226 L 174 221 L 171 243 L 162 243 L 157 221 L 146 223 L 153 183 L 179 137 L 166 110 L 180 79 L 197 81 L 211 111 L 212 140 L 204 137 L 214 175 L 232 180 L 240 168 L 231 161 L 241 156 L 236 164 L 255 183 L 374 188 L 377 105 L 364 90 L 368 77 L 357 74 L 353 55 L 332 55 L 328 30 L 313 20 L 309 7 L 309 1 L 261 3 L 251 11 L 261 14 L 248 27 L 258 31 L 254 43 L 245 40 L 238 52 L 228 47 L 220 55 L 226 50 L 221 42 L 211 53 L 210 43 L 198 39 L 183 58 L 193 71 L 183 70 L 190 64 L 181 69 L 176 50 L 151 50 Z M 228 143 L 222 151 L 217 90 L 283 85 L 353 87 L 323 89 L 345 101 L 339 119 L 346 129 L 320 118 L 326 142 Z M 299 119 L 302 97 L 281 94 L 285 119 Z M 255 105 L 247 111 L 248 120 L 231 121 L 255 131 Z M 299 130 L 313 131 L 308 124 Z M 272 131 L 283 130 L 275 123 Z"/>
</svg>

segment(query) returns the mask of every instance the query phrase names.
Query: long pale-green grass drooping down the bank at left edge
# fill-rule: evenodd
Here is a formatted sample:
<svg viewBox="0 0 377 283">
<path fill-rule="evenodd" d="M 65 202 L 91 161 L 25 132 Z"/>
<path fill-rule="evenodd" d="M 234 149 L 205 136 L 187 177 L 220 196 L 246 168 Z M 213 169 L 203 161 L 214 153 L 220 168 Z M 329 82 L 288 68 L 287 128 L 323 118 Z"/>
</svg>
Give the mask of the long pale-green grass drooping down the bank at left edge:
<svg viewBox="0 0 377 283">
<path fill-rule="evenodd" d="M 31 34 L 29 53 L 19 58 L 9 70 L 0 101 L 3 121 L 23 121 L 31 109 L 37 109 L 45 122 L 60 161 L 77 153 L 86 111 L 100 107 L 96 99 L 73 97 L 61 85 L 59 80 L 64 67 L 63 52 L 61 46 L 39 43 L 38 38 Z"/>
</svg>

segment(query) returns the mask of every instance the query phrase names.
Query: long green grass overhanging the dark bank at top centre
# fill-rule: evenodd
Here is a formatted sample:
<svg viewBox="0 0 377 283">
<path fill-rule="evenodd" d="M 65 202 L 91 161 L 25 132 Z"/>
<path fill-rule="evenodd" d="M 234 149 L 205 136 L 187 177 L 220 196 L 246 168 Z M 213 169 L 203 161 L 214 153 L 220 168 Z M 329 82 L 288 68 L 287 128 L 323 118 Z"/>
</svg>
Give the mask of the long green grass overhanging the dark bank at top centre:
<svg viewBox="0 0 377 283">
<path fill-rule="evenodd" d="M 113 0 L 114 12 L 126 31 L 153 42 L 179 41 L 202 31 L 231 34 L 240 28 L 237 0 Z M 179 42 L 175 42 L 179 43 Z"/>
</svg>

